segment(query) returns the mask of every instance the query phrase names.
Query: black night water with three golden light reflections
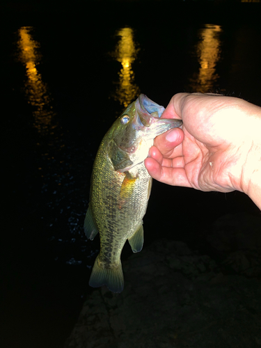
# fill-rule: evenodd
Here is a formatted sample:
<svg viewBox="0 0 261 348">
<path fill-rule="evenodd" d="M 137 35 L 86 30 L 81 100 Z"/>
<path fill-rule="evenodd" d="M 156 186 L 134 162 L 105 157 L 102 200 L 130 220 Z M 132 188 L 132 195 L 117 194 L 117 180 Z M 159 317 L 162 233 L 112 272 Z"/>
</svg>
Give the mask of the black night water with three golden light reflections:
<svg viewBox="0 0 261 348">
<path fill-rule="evenodd" d="M 142 92 L 166 106 L 182 91 L 261 105 L 259 5 L 1 7 L 1 347 L 58 348 L 70 335 L 99 248 L 82 228 L 93 159 L 125 105 Z M 145 246 L 168 237 L 196 247 L 212 221 L 244 211 L 259 214 L 242 193 L 154 182 Z"/>
</svg>

